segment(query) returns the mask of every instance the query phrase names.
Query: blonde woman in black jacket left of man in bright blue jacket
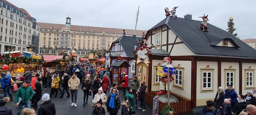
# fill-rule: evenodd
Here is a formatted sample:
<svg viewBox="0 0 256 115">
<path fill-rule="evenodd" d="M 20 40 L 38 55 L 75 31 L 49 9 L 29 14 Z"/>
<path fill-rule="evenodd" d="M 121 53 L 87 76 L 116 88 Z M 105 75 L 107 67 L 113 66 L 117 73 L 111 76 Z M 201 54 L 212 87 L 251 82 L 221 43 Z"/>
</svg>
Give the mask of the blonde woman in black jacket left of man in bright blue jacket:
<svg viewBox="0 0 256 115">
<path fill-rule="evenodd" d="M 216 93 L 216 96 L 214 98 L 215 107 L 212 112 L 213 115 L 216 115 L 217 110 L 220 109 L 220 106 L 224 103 L 225 98 L 226 98 L 226 95 L 225 95 L 224 88 L 219 87 Z"/>
</svg>

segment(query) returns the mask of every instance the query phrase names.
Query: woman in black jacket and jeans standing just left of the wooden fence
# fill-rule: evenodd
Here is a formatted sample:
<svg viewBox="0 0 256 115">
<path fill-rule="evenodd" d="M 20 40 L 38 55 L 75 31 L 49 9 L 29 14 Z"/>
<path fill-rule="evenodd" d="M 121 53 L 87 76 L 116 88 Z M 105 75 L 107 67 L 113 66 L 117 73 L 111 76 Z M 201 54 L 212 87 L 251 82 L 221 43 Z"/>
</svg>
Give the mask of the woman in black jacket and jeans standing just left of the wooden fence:
<svg viewBox="0 0 256 115">
<path fill-rule="evenodd" d="M 145 91 L 146 91 L 147 85 L 146 81 L 142 80 L 140 84 L 140 88 L 137 90 L 140 95 L 139 95 L 139 100 L 140 100 L 140 107 L 138 109 L 143 109 L 142 111 L 146 111 L 146 104 L 145 104 Z M 137 97 L 135 97 L 137 98 Z"/>
</svg>

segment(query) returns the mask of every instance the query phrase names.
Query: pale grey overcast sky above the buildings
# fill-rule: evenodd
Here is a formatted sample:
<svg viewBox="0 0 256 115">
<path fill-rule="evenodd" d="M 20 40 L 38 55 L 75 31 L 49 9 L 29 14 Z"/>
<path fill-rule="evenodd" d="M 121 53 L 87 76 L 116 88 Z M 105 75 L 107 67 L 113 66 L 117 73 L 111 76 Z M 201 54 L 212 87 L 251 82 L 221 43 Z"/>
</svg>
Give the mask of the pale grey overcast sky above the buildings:
<svg viewBox="0 0 256 115">
<path fill-rule="evenodd" d="M 174 6 L 176 15 L 192 19 L 208 14 L 208 23 L 226 30 L 230 16 L 234 18 L 235 33 L 240 39 L 256 38 L 255 0 L 8 0 L 23 8 L 37 22 L 71 25 L 135 29 L 136 13 L 140 6 L 137 30 L 148 30 L 165 18 L 164 8 Z M 198 25 L 199 27 L 200 25 Z M 211 31 L 211 30 L 209 30 Z"/>
</svg>

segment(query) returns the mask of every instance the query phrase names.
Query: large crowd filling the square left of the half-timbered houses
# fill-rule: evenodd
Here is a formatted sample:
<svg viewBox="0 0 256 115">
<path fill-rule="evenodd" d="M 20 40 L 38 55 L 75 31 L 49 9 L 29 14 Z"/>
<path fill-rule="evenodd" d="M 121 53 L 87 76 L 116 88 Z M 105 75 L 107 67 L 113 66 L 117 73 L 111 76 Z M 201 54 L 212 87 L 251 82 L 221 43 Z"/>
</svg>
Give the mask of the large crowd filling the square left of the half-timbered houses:
<svg viewBox="0 0 256 115">
<path fill-rule="evenodd" d="M 109 66 L 103 68 L 102 64 L 88 63 L 86 61 L 69 62 L 63 73 L 58 67 L 56 70 L 47 68 L 44 70 L 44 74 L 38 72 L 35 77 L 32 77 L 32 71 L 26 72 L 24 76 L 17 75 L 16 84 L 13 88 L 16 91 L 15 97 L 10 92 L 11 76 L 4 72 L 0 73 L 2 89 L 4 90 L 3 98 L 0 96 L 0 114 L 2 114 L 1 110 L 4 109 L 6 110 L 3 112 L 4 115 L 12 115 L 12 109 L 2 106 L 2 104 L 4 105 L 14 100 L 15 105 L 19 108 L 17 115 L 20 115 L 20 113 L 23 115 L 35 115 L 34 109 L 38 110 L 38 115 L 55 115 L 58 111 L 55 110 L 52 100 L 58 96 L 59 91 L 61 94 L 59 98 L 63 98 L 65 92 L 67 92 L 66 98 L 70 97 L 71 94 L 71 106 L 77 107 L 77 92 L 80 84 L 84 93 L 83 106 L 88 104 L 89 96 L 92 96 L 91 106 L 94 107 L 92 115 L 117 115 L 121 105 L 122 115 L 135 114 L 136 108 L 137 111 L 140 109 L 146 111 L 145 91 L 147 86 L 145 81 L 140 83 L 137 76 L 133 76 L 131 87 L 129 87 L 127 72 L 121 73 L 125 99 L 120 100 L 120 92 L 117 89 L 117 84 L 112 83 L 112 68 Z M 47 90 L 48 87 L 49 94 L 45 93 L 42 96 L 42 90 Z M 109 87 L 111 87 L 110 91 L 107 92 Z M 140 95 L 137 96 L 138 94 Z M 52 99 L 50 100 L 50 98 Z M 38 105 L 37 103 L 40 100 L 43 103 Z M 138 100 L 141 102 L 140 107 L 137 107 Z M 23 107 L 25 108 L 23 109 Z M 31 109 L 31 107 L 34 109 Z"/>
</svg>

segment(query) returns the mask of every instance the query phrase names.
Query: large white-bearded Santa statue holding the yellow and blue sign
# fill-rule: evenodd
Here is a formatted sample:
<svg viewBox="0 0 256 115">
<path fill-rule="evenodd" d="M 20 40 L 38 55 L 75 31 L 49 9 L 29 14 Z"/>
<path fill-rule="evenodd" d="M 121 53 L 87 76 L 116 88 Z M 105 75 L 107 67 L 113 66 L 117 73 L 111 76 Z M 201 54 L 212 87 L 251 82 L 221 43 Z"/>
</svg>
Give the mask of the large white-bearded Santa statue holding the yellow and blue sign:
<svg viewBox="0 0 256 115">
<path fill-rule="evenodd" d="M 163 64 L 160 66 L 164 66 L 164 67 L 172 67 L 172 59 L 170 57 L 164 57 L 163 60 Z M 164 85 L 166 84 L 166 90 L 168 89 L 168 78 L 167 78 L 167 73 L 164 74 L 164 77 L 161 77 L 161 81 L 160 81 L 160 92 L 156 92 L 157 95 L 163 95 L 164 94 Z M 170 77 L 169 77 L 169 81 L 170 81 L 170 94 L 171 94 L 171 90 L 172 90 L 172 81 L 174 80 L 174 78 L 172 77 L 172 74 L 170 73 Z M 166 94 L 167 95 L 167 94 Z"/>
</svg>

